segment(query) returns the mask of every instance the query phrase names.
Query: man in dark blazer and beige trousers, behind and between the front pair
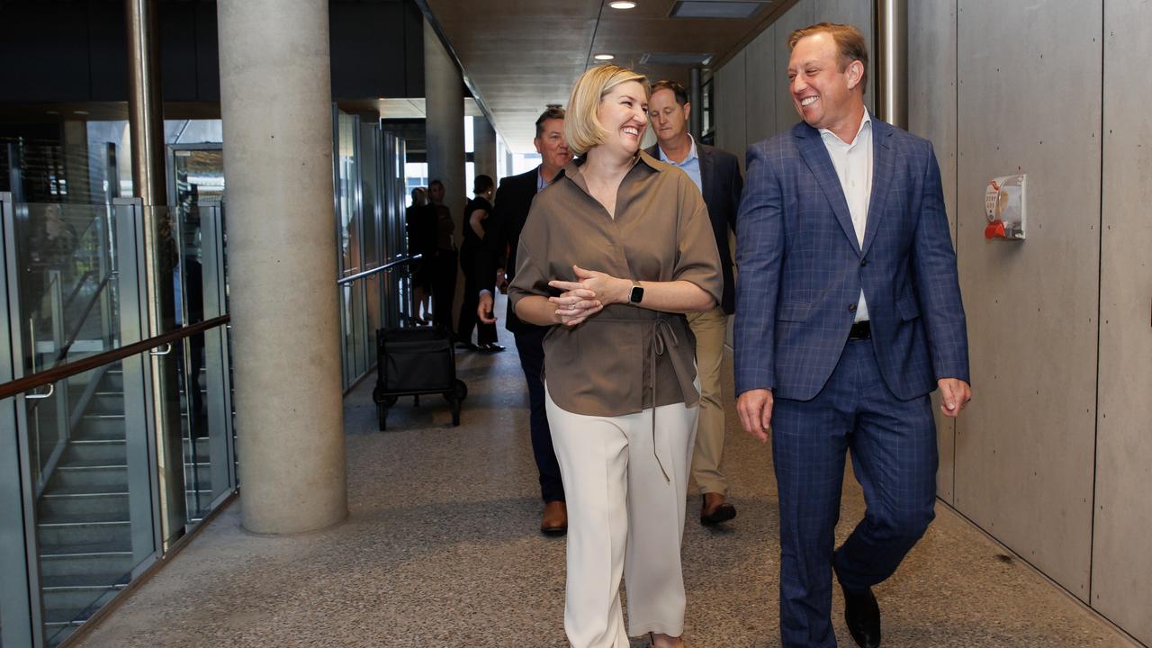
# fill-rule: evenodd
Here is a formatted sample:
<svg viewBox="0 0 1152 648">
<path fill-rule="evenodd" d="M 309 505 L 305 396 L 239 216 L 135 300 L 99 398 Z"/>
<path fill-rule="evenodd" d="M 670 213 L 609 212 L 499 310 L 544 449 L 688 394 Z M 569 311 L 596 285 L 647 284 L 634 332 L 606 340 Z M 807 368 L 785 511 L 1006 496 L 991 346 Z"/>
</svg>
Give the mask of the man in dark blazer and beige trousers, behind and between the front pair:
<svg viewBox="0 0 1152 648">
<path fill-rule="evenodd" d="M 692 480 L 700 488 L 703 498 L 700 522 L 715 525 L 736 517 L 736 507 L 727 502 L 728 480 L 721 469 L 725 423 L 720 361 L 728 333 L 728 316 L 735 310 L 736 302 L 728 233 L 736 228 L 736 210 L 744 180 L 740 175 L 736 156 L 700 144 L 688 134 L 691 110 L 688 91 L 680 83 L 659 81 L 652 84 L 649 118 L 657 144 L 647 152 L 660 161 L 682 168 L 704 195 L 723 271 L 720 304 L 705 312 L 688 315 L 696 337 L 696 369 L 700 379 L 700 421 L 692 453 Z"/>
</svg>

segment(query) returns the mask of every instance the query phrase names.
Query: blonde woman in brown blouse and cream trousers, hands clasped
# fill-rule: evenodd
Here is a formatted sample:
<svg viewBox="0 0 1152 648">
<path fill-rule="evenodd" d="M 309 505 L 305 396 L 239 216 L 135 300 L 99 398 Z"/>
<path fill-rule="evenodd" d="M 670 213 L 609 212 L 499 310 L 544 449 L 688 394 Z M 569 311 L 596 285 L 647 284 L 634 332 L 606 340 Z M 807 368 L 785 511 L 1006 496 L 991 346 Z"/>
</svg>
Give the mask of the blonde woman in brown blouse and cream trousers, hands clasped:
<svg viewBox="0 0 1152 648">
<path fill-rule="evenodd" d="M 723 286 L 699 190 L 639 150 L 647 98 L 647 80 L 616 66 L 576 81 L 564 137 L 581 157 L 533 201 L 509 288 L 521 319 L 552 326 L 546 407 L 568 500 L 575 648 L 627 648 L 645 633 L 683 646 L 699 400 L 683 314 L 714 308 Z"/>
</svg>

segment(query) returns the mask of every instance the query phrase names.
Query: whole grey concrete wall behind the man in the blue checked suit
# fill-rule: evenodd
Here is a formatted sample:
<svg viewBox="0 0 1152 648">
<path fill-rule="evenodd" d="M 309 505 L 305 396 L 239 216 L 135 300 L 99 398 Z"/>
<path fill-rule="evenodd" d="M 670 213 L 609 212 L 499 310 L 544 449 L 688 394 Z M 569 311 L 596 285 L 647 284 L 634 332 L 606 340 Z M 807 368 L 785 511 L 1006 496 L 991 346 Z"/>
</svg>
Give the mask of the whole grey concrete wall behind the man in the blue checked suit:
<svg viewBox="0 0 1152 648">
<path fill-rule="evenodd" d="M 871 35 L 871 5 L 801 0 L 717 70 L 718 145 L 796 123 L 788 33 Z M 909 2 L 909 128 L 940 163 L 976 394 L 939 422 L 938 493 L 1152 645 L 1147 24 L 1139 0 Z M 1017 169 L 1029 240 L 985 241 L 984 187 Z"/>
</svg>

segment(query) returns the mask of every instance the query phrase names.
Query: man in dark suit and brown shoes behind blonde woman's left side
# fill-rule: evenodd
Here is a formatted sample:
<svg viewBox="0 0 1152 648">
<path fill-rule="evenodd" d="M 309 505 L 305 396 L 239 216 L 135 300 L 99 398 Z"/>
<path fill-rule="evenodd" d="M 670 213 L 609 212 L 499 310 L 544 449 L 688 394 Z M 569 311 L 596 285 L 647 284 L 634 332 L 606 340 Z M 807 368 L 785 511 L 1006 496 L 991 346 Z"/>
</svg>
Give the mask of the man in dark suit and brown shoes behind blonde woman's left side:
<svg viewBox="0 0 1152 648">
<path fill-rule="evenodd" d="M 495 289 L 498 270 L 501 268 L 507 270 L 508 281 L 511 281 L 516 271 L 516 247 L 520 244 L 520 232 L 528 220 L 532 198 L 573 159 L 564 142 L 563 108 L 550 107 L 536 120 L 533 143 L 540 153 L 540 166 L 500 181 L 495 205 L 488 218 L 488 228 L 484 234 L 484 247 L 477 255 L 476 276 L 482 278 L 477 316 L 486 324 L 495 322 L 492 312 L 492 293 Z M 532 454 L 540 473 L 540 496 L 544 498 L 540 530 L 546 535 L 563 535 L 568 530 L 564 487 L 560 481 L 560 464 L 556 461 L 555 451 L 552 450 L 552 432 L 544 407 L 544 336 L 548 329 L 522 322 L 511 308 L 508 309 L 507 319 L 508 330 L 516 339 L 520 366 L 528 382 Z"/>
</svg>

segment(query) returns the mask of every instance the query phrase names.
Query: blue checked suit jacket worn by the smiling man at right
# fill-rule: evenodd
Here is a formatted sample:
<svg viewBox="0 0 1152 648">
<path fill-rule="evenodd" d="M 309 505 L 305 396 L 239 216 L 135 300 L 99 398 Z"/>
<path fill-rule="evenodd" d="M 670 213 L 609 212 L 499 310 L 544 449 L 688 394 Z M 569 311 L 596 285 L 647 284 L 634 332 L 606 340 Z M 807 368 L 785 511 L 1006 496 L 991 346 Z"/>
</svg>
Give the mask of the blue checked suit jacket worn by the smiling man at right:
<svg viewBox="0 0 1152 648">
<path fill-rule="evenodd" d="M 872 118 L 864 244 L 820 133 L 804 122 L 748 150 L 736 218 L 736 393 L 809 400 L 848 340 L 863 288 L 872 345 L 902 400 L 969 380 L 968 331 L 932 144 Z"/>
</svg>

